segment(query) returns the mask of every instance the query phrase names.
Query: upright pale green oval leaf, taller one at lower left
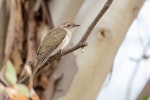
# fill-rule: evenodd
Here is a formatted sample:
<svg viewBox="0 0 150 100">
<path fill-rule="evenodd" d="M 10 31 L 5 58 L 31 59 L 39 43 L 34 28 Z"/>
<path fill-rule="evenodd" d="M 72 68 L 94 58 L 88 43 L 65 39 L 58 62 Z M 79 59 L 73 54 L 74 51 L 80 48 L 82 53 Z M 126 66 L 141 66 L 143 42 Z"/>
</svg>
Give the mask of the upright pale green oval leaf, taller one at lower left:
<svg viewBox="0 0 150 100">
<path fill-rule="evenodd" d="M 9 85 L 14 85 L 17 82 L 16 70 L 11 61 L 6 63 L 5 78 Z"/>
</svg>

